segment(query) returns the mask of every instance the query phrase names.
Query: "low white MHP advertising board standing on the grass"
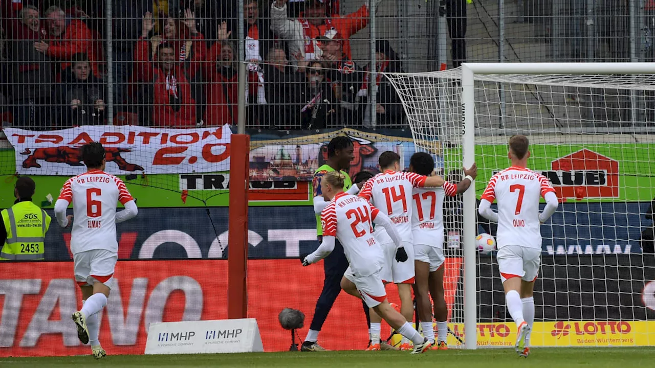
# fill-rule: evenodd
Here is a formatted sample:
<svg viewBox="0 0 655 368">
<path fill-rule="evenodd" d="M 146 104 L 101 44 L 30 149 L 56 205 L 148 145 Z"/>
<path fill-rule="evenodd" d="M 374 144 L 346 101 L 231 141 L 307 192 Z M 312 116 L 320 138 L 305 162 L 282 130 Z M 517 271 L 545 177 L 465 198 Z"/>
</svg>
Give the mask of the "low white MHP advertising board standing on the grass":
<svg viewBox="0 0 655 368">
<path fill-rule="evenodd" d="M 254 318 L 151 323 L 145 354 L 263 352 Z"/>
</svg>

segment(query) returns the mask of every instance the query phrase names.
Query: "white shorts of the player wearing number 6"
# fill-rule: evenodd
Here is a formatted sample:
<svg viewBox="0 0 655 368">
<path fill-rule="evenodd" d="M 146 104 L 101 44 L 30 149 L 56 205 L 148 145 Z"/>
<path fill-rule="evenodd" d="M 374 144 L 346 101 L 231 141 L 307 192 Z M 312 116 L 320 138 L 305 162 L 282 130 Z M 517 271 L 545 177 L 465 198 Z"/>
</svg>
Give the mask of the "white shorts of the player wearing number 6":
<svg viewBox="0 0 655 368">
<path fill-rule="evenodd" d="M 102 282 L 111 289 L 119 255 L 107 249 L 92 249 L 73 254 L 73 272 L 80 286 Z"/>
</svg>

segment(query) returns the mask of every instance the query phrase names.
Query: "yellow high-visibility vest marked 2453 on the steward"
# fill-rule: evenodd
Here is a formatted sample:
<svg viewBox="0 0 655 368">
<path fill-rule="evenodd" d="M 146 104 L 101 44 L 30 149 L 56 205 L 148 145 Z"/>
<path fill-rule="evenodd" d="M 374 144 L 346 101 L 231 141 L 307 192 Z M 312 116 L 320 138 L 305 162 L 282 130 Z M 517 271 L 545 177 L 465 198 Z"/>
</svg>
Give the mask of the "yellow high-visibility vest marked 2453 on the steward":
<svg viewBox="0 0 655 368">
<path fill-rule="evenodd" d="M 43 259 L 43 239 L 50 216 L 26 200 L 1 212 L 7 240 L 0 249 L 0 261 Z"/>
</svg>

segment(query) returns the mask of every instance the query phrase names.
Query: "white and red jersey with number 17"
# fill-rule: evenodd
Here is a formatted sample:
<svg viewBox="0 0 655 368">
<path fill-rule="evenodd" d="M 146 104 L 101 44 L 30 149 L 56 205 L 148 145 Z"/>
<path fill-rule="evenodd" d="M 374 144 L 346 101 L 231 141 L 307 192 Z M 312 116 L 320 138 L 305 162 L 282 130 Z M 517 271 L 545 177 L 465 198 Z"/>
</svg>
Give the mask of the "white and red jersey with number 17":
<svg viewBox="0 0 655 368">
<path fill-rule="evenodd" d="M 457 185 L 446 181 L 441 188 L 414 188 L 412 193 L 414 244 L 443 249 L 443 199 L 455 196 Z"/>
</svg>

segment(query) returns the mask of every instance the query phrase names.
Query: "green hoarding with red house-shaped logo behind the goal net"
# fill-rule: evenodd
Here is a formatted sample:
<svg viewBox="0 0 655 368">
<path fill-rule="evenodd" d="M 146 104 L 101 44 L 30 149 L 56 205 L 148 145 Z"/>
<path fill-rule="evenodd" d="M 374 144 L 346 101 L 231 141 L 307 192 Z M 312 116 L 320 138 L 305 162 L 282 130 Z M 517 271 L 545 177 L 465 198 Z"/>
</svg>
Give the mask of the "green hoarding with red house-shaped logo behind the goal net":
<svg viewBox="0 0 655 368">
<path fill-rule="evenodd" d="M 645 202 L 655 196 L 655 145 L 531 144 L 528 167 L 550 179 L 558 196 L 587 202 Z M 476 145 L 476 193 L 510 166 L 507 145 Z M 561 195 L 563 194 L 563 195 Z"/>
</svg>

